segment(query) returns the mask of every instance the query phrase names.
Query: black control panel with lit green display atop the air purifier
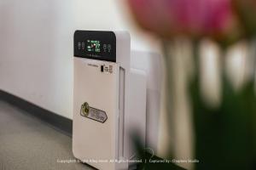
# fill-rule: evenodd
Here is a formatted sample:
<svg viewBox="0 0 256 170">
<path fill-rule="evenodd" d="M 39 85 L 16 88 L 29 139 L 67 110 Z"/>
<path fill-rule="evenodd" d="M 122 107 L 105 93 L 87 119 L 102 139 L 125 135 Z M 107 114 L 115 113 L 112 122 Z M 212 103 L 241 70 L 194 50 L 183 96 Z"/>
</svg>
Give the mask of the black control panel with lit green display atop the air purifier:
<svg viewBox="0 0 256 170">
<path fill-rule="evenodd" d="M 74 56 L 116 62 L 116 37 L 113 31 L 75 31 Z"/>
</svg>

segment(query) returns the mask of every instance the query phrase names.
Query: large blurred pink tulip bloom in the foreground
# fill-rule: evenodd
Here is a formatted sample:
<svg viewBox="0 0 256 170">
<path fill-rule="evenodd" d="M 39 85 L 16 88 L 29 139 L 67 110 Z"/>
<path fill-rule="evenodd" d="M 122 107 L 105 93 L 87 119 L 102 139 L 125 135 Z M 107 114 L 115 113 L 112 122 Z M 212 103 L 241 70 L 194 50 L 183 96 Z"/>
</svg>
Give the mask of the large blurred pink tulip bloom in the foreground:
<svg viewBox="0 0 256 170">
<path fill-rule="evenodd" d="M 231 0 L 128 0 L 138 24 L 160 37 L 222 39 L 237 28 Z"/>
</svg>

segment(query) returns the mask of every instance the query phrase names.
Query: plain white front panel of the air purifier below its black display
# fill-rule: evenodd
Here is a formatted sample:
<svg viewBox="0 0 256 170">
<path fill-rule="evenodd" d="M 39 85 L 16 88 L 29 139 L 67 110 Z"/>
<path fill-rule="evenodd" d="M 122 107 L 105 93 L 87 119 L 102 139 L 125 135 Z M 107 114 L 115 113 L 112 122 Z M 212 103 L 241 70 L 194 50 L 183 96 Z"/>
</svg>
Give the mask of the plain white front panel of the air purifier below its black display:
<svg viewBox="0 0 256 170">
<path fill-rule="evenodd" d="M 98 169 L 113 170 L 119 109 L 119 65 L 73 58 L 73 154 Z"/>
</svg>

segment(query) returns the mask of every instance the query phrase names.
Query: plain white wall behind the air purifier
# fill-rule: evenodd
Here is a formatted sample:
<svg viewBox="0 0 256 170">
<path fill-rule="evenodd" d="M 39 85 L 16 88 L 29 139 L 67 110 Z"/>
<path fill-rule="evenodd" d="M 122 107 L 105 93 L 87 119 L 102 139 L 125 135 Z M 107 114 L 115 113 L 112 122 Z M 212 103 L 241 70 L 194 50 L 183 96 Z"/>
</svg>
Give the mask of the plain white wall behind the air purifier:
<svg viewBox="0 0 256 170">
<path fill-rule="evenodd" d="M 131 31 L 148 50 L 121 0 L 0 0 L 0 88 L 72 118 L 73 32 Z"/>
</svg>

